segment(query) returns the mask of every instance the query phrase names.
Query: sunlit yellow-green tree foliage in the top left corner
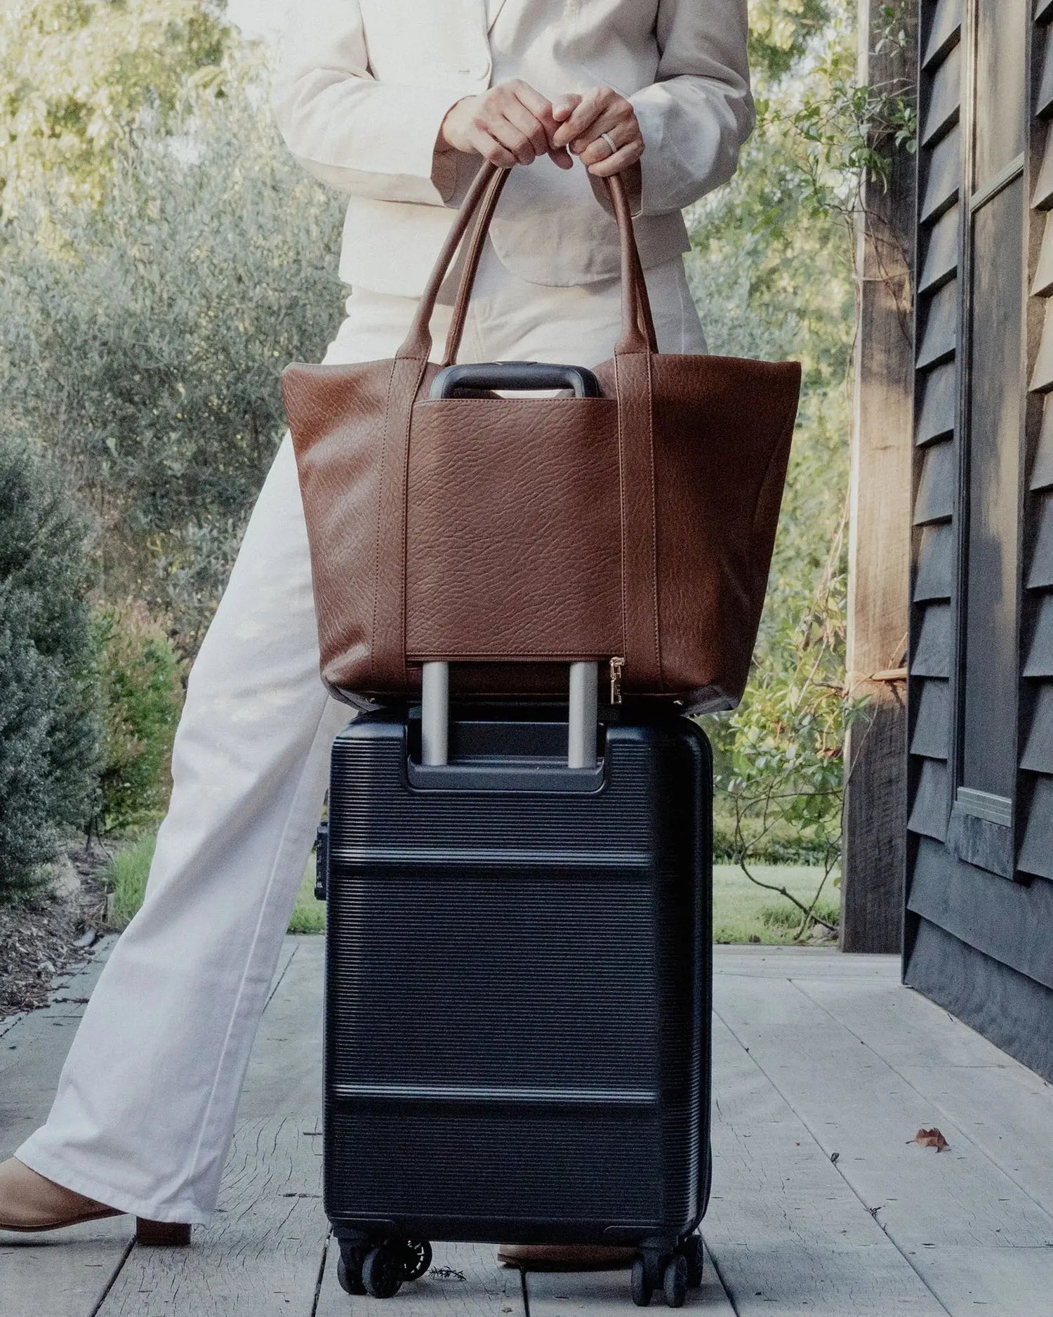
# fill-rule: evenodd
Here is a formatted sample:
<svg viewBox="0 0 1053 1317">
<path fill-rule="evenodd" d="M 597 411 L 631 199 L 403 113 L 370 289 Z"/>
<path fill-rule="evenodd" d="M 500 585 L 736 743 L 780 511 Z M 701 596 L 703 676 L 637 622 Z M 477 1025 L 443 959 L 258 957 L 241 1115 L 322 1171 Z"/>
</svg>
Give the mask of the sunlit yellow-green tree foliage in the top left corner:
<svg viewBox="0 0 1053 1317">
<path fill-rule="evenodd" d="M 101 198 L 129 132 L 165 130 L 188 84 L 218 91 L 225 0 L 4 0 L 0 5 L 0 213 L 46 179 Z"/>
</svg>

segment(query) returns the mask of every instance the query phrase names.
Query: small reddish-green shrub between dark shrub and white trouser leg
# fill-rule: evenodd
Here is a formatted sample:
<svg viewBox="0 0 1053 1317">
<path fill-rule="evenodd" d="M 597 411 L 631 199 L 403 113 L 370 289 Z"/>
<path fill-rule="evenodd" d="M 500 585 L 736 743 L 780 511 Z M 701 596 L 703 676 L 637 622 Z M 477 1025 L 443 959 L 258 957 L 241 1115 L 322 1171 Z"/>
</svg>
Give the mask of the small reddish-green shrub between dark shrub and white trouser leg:
<svg viewBox="0 0 1053 1317">
<path fill-rule="evenodd" d="M 96 610 L 93 635 L 103 702 L 99 824 L 115 832 L 165 810 L 183 685 L 179 657 L 145 605 Z"/>
</svg>

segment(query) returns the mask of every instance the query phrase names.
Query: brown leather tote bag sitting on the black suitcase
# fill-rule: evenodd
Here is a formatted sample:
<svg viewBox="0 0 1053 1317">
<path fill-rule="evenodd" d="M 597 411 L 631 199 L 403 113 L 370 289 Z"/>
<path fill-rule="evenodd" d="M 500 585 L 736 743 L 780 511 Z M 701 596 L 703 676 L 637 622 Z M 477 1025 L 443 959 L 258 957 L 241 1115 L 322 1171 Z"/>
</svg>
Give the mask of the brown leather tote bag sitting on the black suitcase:
<svg viewBox="0 0 1053 1317">
<path fill-rule="evenodd" d="M 800 367 L 657 350 L 620 179 L 623 325 L 598 398 L 432 399 L 455 360 L 507 170 L 483 166 L 394 361 L 283 375 L 321 673 L 351 703 L 454 690 L 554 694 L 566 664 L 621 689 L 733 707 L 761 618 Z M 440 284 L 469 232 L 441 363 Z"/>
</svg>

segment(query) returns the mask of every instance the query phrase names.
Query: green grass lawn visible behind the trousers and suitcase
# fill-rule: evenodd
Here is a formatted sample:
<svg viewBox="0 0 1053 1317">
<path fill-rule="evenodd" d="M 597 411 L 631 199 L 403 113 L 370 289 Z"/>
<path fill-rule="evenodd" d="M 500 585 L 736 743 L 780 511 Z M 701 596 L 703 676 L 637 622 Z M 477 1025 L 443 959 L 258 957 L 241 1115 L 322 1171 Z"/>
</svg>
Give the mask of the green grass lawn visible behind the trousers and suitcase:
<svg viewBox="0 0 1053 1317">
<path fill-rule="evenodd" d="M 113 890 L 113 923 L 124 928 L 142 905 L 146 876 L 154 855 L 154 832 L 145 832 L 137 842 L 118 851 L 107 874 Z M 808 865 L 758 864 L 752 869 L 762 882 L 784 886 L 798 900 L 809 905 L 823 878 L 823 871 Z M 837 923 L 838 893 L 833 874 L 827 880 L 816 913 Z M 769 946 L 792 943 L 800 926 L 800 913 L 784 897 L 766 892 L 750 882 L 734 864 L 713 869 L 713 942 L 753 942 Z M 304 871 L 296 906 L 290 919 L 290 932 L 321 932 L 325 928 L 325 905 L 315 900 L 315 859 Z M 807 940 L 800 939 L 800 940 Z"/>
</svg>

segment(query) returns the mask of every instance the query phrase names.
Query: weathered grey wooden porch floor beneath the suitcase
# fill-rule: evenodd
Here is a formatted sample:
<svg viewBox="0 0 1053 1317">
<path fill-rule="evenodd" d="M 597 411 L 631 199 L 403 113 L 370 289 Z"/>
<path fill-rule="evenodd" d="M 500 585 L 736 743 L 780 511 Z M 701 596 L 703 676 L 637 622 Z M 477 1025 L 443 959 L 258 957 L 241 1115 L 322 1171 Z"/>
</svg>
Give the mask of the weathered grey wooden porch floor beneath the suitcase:
<svg viewBox="0 0 1053 1317">
<path fill-rule="evenodd" d="M 125 1220 L 43 1242 L 0 1234 L 0 1317 L 600 1317 L 621 1272 L 529 1276 L 437 1246 L 392 1300 L 349 1300 L 319 1198 L 322 942 L 287 940 L 221 1210 L 188 1250 Z M 96 959 L 0 1023 L 0 1155 L 46 1114 Z M 704 1289 L 731 1314 L 1053 1312 L 1053 1092 L 900 988 L 892 957 L 716 948 L 713 1197 Z M 950 1147 L 908 1141 L 937 1125 Z M 661 1300 L 655 1299 L 655 1309 Z"/>
</svg>

